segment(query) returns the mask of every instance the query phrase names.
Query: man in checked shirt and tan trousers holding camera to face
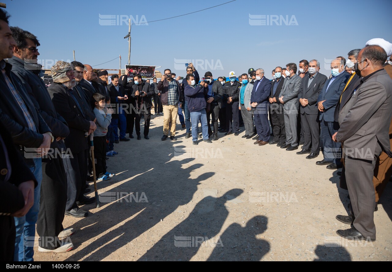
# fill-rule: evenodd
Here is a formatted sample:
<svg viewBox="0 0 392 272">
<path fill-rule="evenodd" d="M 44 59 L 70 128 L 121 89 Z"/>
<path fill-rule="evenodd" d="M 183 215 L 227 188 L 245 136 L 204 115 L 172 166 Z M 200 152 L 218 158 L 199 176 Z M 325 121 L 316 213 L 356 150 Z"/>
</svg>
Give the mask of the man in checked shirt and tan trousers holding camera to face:
<svg viewBox="0 0 392 272">
<path fill-rule="evenodd" d="M 169 135 L 170 124 L 170 140 L 175 141 L 178 105 L 182 106 L 183 104 L 184 92 L 181 90 L 180 83 L 171 77 L 170 69 L 165 69 L 163 73 L 160 82 L 158 82 L 158 90 L 163 106 L 162 141 L 166 140 Z"/>
</svg>

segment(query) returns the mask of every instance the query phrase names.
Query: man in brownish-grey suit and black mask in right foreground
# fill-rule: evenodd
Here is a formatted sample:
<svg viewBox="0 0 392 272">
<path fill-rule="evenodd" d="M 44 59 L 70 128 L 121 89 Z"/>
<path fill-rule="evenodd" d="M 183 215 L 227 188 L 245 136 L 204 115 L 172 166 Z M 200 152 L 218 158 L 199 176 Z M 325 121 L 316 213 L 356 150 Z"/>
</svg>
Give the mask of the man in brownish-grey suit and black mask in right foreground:
<svg viewBox="0 0 392 272">
<path fill-rule="evenodd" d="M 376 240 L 373 172 L 378 156 L 390 158 L 389 125 L 392 117 L 392 80 L 383 69 L 384 49 L 369 45 L 357 57 L 361 85 L 342 105 L 340 128 L 332 140 L 343 143 L 348 193 L 354 212 L 353 227 L 337 230 L 346 239 Z M 341 216 L 343 217 L 343 216 Z"/>
</svg>

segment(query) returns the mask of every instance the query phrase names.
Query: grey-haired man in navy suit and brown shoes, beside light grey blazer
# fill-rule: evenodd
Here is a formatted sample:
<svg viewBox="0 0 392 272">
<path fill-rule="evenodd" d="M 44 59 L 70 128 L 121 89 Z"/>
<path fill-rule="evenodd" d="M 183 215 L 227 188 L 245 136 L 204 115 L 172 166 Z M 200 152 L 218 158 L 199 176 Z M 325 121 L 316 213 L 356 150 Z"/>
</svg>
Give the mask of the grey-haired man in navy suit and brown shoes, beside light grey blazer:
<svg viewBox="0 0 392 272">
<path fill-rule="evenodd" d="M 253 83 L 252 94 L 250 95 L 250 106 L 254 109 L 254 124 L 259 138 L 255 145 L 266 145 L 270 137 L 270 127 L 268 121 L 268 98 L 271 91 L 271 82 L 264 76 L 264 70 L 256 70 L 256 80 Z"/>
</svg>

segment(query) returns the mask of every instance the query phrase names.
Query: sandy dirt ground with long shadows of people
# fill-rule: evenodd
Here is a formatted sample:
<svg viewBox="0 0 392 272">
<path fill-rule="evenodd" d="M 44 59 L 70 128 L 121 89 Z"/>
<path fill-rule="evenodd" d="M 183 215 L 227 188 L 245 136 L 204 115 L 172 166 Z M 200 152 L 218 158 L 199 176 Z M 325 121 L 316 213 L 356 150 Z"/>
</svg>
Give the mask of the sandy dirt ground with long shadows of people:
<svg viewBox="0 0 392 272">
<path fill-rule="evenodd" d="M 150 140 L 114 145 L 120 154 L 107 165 L 116 176 L 97 184 L 101 207 L 64 218 L 74 249 L 35 247 L 36 261 L 392 260 L 392 183 L 374 213 L 377 240 L 349 241 L 336 230 L 350 226 L 335 219 L 347 214 L 347 191 L 336 170 L 315 164 L 322 155 L 259 147 L 243 128 L 196 146 L 178 120 L 177 141 L 161 141 L 162 127 L 152 116 Z"/>
</svg>

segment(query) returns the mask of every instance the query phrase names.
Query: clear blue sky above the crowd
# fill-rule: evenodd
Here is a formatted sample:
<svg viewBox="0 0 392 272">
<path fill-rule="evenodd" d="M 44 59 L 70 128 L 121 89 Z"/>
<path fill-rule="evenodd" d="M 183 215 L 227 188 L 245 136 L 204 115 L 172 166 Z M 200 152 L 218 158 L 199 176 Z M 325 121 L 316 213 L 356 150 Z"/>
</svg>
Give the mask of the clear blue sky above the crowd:
<svg viewBox="0 0 392 272">
<path fill-rule="evenodd" d="M 11 26 L 21 27 L 38 37 L 41 43 L 38 59 L 42 63 L 73 60 L 75 50 L 76 60 L 90 65 L 107 62 L 121 54 L 124 68 L 128 42 L 123 37 L 128 25 L 121 20 L 117 22 L 117 17 L 148 22 L 227 1 L 2 2 L 7 4 L 6 10 L 11 14 Z M 183 63 L 195 60 L 196 69 L 202 75 L 211 71 L 214 78 L 227 77 L 230 71 L 239 75 L 252 67 L 263 68 L 266 77 L 271 79 L 270 71 L 278 65 L 289 62 L 298 65 L 302 59 L 318 59 L 321 73 L 329 76 L 330 59 L 339 55 L 347 57 L 348 51 L 362 48 L 371 38 L 392 42 L 391 8 L 390 0 L 237 0 L 179 18 L 132 25 L 131 64 L 159 65 L 162 66 L 160 71 L 171 68 L 172 72 L 184 76 Z M 100 21 L 99 14 L 114 15 L 114 25 L 105 25 L 108 21 L 105 17 Z M 293 25 L 286 24 L 286 16 Z M 271 21 L 271 18 L 278 20 Z M 266 25 L 260 25 L 263 22 Z M 116 59 L 94 68 L 118 67 Z"/>
</svg>

